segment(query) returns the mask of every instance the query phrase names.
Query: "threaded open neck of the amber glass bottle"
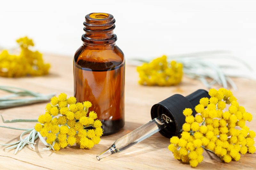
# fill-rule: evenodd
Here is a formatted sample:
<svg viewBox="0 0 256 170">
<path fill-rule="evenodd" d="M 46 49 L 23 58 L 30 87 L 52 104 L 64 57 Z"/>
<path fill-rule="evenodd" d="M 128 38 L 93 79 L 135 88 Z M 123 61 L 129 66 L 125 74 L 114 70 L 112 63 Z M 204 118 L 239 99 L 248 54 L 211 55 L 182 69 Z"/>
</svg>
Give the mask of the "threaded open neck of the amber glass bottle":
<svg viewBox="0 0 256 170">
<path fill-rule="evenodd" d="M 116 20 L 107 13 L 91 13 L 85 16 L 83 44 L 89 47 L 114 46 L 117 40 L 114 34 Z"/>
</svg>

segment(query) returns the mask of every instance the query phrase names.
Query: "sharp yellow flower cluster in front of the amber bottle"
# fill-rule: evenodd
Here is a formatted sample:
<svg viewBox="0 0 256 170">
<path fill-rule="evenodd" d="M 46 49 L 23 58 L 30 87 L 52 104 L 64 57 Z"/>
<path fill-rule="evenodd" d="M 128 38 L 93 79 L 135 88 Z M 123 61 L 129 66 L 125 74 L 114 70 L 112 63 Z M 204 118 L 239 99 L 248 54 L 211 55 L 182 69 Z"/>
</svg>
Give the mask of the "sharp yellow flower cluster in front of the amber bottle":
<svg viewBox="0 0 256 170">
<path fill-rule="evenodd" d="M 100 142 L 103 134 L 102 123 L 96 120 L 97 114 L 94 111 L 88 114 L 91 106 L 90 101 L 76 103 L 75 97 L 67 98 L 67 94 L 61 93 L 46 105 L 46 112 L 38 117 L 35 129 L 56 151 L 75 143 L 81 149 L 90 149 Z"/>
</svg>

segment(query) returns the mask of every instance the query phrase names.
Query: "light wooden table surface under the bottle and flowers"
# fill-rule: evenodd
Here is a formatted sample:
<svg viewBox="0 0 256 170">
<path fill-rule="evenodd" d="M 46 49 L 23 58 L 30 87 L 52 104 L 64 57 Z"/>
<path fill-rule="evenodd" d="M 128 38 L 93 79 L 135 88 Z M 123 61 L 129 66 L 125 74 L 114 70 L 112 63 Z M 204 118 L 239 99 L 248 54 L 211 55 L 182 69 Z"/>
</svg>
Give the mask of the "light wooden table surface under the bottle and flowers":
<svg viewBox="0 0 256 170">
<path fill-rule="evenodd" d="M 71 57 L 44 55 L 45 61 L 52 67 L 50 74 L 43 77 L 0 78 L 0 85 L 26 88 L 35 92 L 52 93 L 65 92 L 73 95 L 73 63 Z M 150 109 L 153 104 L 165 98 L 180 93 L 188 95 L 204 85 L 196 80 L 184 77 L 182 83 L 172 87 L 147 87 L 137 83 L 136 68 L 126 65 L 125 79 L 125 126 L 118 133 L 103 136 L 98 145 L 92 149 L 67 147 L 60 151 L 45 151 L 44 144 L 37 139 L 35 150 L 28 145 L 14 155 L 14 150 L 4 150 L 0 146 L 0 169 L 185 169 L 191 168 L 173 158 L 168 150 L 170 140 L 156 133 L 152 137 L 134 145 L 132 148 L 111 155 L 98 161 L 96 155 L 106 150 L 113 142 L 151 120 Z M 238 90 L 233 93 L 240 105 L 254 116 L 247 123 L 250 129 L 256 131 L 256 81 L 234 79 Z M 216 86 L 216 88 L 219 88 Z M 207 90 L 207 89 L 206 89 Z M 0 96 L 5 93 L 0 91 Z M 37 119 L 43 114 L 46 103 L 33 104 L 23 107 L 2 109 L 0 113 L 6 120 Z M 32 128 L 35 123 L 12 123 L 8 126 Z M 0 125 L 7 125 L 0 122 Z M 22 131 L 0 128 L 0 143 L 10 143 L 19 140 Z M 197 169 L 255 169 L 256 154 L 245 154 L 238 162 L 223 163 L 211 152 L 204 151 L 204 160 Z"/>
</svg>

